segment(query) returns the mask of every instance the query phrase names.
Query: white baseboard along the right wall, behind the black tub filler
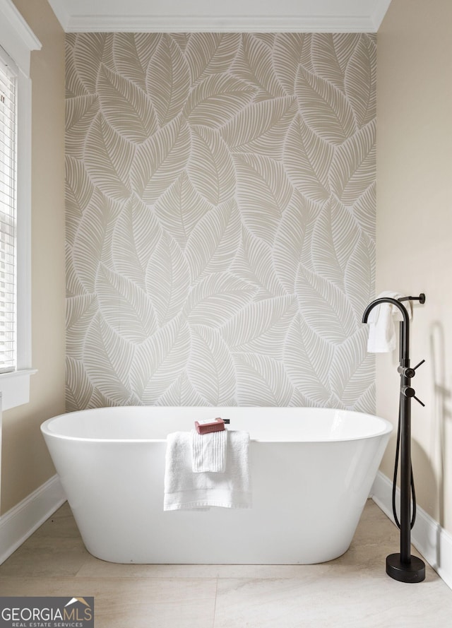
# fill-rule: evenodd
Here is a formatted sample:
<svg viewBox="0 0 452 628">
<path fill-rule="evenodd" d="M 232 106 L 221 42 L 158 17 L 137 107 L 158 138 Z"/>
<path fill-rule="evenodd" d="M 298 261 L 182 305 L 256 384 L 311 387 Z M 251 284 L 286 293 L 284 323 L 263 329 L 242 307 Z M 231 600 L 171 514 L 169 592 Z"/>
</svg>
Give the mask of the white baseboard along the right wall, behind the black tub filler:
<svg viewBox="0 0 452 628">
<path fill-rule="evenodd" d="M 371 489 L 371 498 L 394 522 L 392 491 L 393 483 L 379 471 Z M 396 503 L 399 504 L 400 490 L 398 488 L 396 494 Z M 447 586 L 452 588 L 452 535 L 441 528 L 439 523 L 420 506 L 416 507 L 416 521 L 411 531 L 411 542 Z"/>
</svg>

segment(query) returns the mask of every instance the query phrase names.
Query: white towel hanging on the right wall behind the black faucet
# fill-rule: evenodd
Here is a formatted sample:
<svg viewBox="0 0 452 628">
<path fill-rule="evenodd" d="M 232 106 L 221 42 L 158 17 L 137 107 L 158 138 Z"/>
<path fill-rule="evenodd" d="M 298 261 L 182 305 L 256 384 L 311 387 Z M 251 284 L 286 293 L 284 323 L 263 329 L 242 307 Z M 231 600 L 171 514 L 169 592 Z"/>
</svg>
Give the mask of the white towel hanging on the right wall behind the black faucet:
<svg viewBox="0 0 452 628">
<path fill-rule="evenodd" d="M 398 299 L 402 295 L 398 292 L 385 290 L 377 297 L 389 297 Z M 410 301 L 403 302 L 408 311 L 408 316 L 412 316 L 412 304 Z M 382 303 L 369 312 L 369 340 L 367 341 L 367 351 L 369 353 L 389 353 L 396 348 L 396 328 L 394 321 L 403 321 L 402 312 L 392 303 Z"/>
</svg>

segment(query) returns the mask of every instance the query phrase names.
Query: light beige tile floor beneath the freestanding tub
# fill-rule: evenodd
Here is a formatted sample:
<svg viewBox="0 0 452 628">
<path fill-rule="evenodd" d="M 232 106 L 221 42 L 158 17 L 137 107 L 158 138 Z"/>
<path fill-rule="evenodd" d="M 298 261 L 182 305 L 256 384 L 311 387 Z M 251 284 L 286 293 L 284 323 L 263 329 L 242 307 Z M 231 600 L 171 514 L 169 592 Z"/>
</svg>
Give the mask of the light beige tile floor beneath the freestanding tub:
<svg viewBox="0 0 452 628">
<path fill-rule="evenodd" d="M 385 573 L 399 535 L 367 502 L 350 550 L 317 565 L 123 565 L 85 550 L 67 504 L 0 566 L 1 596 L 94 596 L 96 628 L 450 628 L 452 591 Z M 415 552 L 413 552 L 415 553 Z"/>
</svg>

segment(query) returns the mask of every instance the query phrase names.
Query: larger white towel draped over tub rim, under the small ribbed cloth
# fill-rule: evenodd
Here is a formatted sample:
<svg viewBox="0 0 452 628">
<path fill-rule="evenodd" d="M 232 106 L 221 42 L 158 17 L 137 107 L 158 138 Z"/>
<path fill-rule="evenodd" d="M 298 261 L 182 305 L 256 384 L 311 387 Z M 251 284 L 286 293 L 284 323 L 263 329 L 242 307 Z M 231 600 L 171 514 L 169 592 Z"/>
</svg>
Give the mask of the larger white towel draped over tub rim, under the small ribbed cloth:
<svg viewBox="0 0 452 628">
<path fill-rule="evenodd" d="M 251 508 L 249 433 L 225 430 L 225 434 L 224 473 L 193 473 L 191 432 L 168 434 L 164 510 Z"/>
</svg>

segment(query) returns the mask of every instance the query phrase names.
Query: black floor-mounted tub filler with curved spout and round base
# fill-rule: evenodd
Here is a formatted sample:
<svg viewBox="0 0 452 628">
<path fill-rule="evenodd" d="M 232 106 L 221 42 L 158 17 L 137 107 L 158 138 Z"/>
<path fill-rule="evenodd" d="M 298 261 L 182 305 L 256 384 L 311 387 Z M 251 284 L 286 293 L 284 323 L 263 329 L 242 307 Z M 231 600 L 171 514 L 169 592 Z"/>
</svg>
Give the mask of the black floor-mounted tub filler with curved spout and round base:
<svg viewBox="0 0 452 628">
<path fill-rule="evenodd" d="M 422 582 L 425 579 L 425 563 L 417 556 L 411 555 L 411 529 L 416 518 L 416 497 L 415 485 L 412 480 L 411 466 L 411 399 L 415 398 L 421 405 L 411 386 L 411 379 L 415 376 L 417 367 L 420 367 L 424 360 L 414 368 L 410 367 L 410 317 L 402 301 L 419 301 L 425 303 L 423 292 L 419 297 L 381 297 L 369 303 L 364 310 L 362 322 L 367 323 L 367 318 L 371 309 L 377 305 L 388 303 L 400 309 L 403 320 L 400 321 L 400 364 L 398 373 L 400 374 L 400 403 L 398 413 L 398 434 L 396 447 L 396 464 L 393 479 L 393 513 L 396 524 L 400 529 L 400 553 L 390 554 L 386 557 L 386 574 L 400 582 Z M 398 455 L 400 449 L 400 522 L 396 513 L 396 478 L 398 470 Z M 413 502 L 413 512 L 411 516 L 411 495 Z"/>
</svg>

